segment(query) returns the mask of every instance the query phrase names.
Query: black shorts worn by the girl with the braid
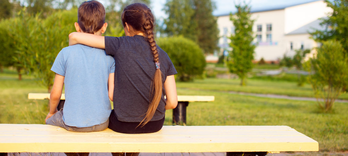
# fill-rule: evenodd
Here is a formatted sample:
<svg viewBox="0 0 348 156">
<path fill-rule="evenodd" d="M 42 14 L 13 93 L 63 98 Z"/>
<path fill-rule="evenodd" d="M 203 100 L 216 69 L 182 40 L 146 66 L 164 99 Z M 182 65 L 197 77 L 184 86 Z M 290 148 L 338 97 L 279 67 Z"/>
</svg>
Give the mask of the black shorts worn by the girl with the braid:
<svg viewBox="0 0 348 156">
<path fill-rule="evenodd" d="M 112 109 L 109 117 L 109 126 L 108 128 L 119 133 L 126 134 L 140 134 L 140 133 L 153 133 L 161 130 L 164 117 L 161 120 L 150 121 L 145 124 L 143 127 L 138 126 L 140 122 L 123 122 L 119 121 L 115 115 L 114 110 Z M 138 126 L 138 127 L 137 127 Z"/>
</svg>

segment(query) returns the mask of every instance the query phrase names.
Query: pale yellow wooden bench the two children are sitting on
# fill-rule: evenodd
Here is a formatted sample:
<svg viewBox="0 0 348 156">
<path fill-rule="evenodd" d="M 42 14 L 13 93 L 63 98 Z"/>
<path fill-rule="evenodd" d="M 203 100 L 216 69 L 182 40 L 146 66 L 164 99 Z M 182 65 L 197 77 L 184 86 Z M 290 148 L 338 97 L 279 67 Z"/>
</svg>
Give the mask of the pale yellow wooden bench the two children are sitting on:
<svg viewBox="0 0 348 156">
<path fill-rule="evenodd" d="M 163 126 L 156 133 L 70 132 L 42 124 L 0 124 L 0 153 L 318 151 L 318 142 L 288 126 Z M 242 154 L 239 154 L 242 155 Z"/>
</svg>

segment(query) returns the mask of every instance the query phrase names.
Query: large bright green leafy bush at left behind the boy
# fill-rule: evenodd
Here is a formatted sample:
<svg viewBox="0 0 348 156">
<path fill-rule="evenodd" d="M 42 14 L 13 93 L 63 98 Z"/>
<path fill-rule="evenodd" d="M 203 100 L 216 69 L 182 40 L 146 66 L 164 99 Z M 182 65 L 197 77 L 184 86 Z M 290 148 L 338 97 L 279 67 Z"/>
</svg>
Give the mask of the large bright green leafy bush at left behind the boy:
<svg viewBox="0 0 348 156">
<path fill-rule="evenodd" d="M 32 73 L 50 92 L 54 78 L 50 68 L 58 52 L 69 46 L 69 33 L 76 31 L 77 8 L 55 11 L 45 19 L 41 14 L 32 15 L 24 8 L 17 16 L 0 23 L 0 28 L 5 30 L 0 32 L 0 41 L 4 43 L 0 45 L 3 49 L 0 60 L 6 60 L 1 63 Z M 109 25 L 108 30 L 108 35 L 124 35 L 119 23 Z"/>
</svg>

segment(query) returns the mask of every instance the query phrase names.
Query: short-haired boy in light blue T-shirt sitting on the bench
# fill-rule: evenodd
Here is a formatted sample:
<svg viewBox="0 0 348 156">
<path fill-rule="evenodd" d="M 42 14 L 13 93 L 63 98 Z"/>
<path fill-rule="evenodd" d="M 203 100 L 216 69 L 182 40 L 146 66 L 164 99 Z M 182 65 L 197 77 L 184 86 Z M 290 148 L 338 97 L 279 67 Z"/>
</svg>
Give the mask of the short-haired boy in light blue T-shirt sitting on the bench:
<svg viewBox="0 0 348 156">
<path fill-rule="evenodd" d="M 97 1 L 83 2 L 78 9 L 77 32 L 102 35 L 105 8 Z M 113 98 L 115 62 L 105 50 L 82 44 L 63 48 L 51 70 L 56 73 L 46 124 L 68 131 L 93 132 L 108 127 Z M 65 83 L 65 103 L 57 110 Z M 109 84 L 109 86 L 108 86 Z"/>
</svg>

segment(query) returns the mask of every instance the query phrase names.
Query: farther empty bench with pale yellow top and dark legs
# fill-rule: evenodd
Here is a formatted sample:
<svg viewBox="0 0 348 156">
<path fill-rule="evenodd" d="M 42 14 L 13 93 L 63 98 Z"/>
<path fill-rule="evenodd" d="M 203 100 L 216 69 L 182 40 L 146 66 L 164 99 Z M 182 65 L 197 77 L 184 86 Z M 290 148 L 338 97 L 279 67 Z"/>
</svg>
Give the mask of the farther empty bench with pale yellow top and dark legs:
<svg viewBox="0 0 348 156">
<path fill-rule="evenodd" d="M 28 99 L 49 99 L 49 93 L 29 93 Z M 173 109 L 173 124 L 186 125 L 186 107 L 189 102 L 208 102 L 214 101 L 214 96 L 177 96 L 177 106 Z M 65 95 L 62 94 L 61 101 L 58 104 L 58 110 L 63 108 Z"/>
</svg>

